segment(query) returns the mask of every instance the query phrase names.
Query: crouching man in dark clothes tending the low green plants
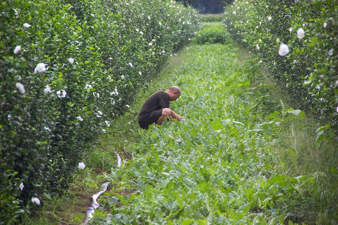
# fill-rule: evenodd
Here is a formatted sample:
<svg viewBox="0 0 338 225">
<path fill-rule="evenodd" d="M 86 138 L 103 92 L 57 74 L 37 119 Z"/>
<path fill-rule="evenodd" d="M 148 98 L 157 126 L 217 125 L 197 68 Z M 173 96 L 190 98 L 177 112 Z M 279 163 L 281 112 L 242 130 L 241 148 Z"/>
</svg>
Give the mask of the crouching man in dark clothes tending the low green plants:
<svg viewBox="0 0 338 225">
<path fill-rule="evenodd" d="M 185 119 L 185 117 L 177 115 L 169 108 L 170 101 L 175 101 L 180 95 L 180 88 L 171 86 L 167 91 L 158 91 L 150 96 L 145 100 L 138 115 L 138 124 L 140 127 L 148 129 L 149 125 L 153 123 L 161 125 L 165 118 L 175 118 L 179 121 Z"/>
</svg>

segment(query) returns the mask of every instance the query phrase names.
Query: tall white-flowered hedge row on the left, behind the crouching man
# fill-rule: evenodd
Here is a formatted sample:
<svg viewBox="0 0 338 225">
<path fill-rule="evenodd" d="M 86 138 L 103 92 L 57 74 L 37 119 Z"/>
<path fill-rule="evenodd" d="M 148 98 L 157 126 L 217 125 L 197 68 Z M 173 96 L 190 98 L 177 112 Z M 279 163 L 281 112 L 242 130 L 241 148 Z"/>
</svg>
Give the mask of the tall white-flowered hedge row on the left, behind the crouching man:
<svg viewBox="0 0 338 225">
<path fill-rule="evenodd" d="M 166 0 L 3 0 L 0 11 L 2 224 L 66 187 L 90 144 L 201 25 L 196 10 Z"/>
</svg>

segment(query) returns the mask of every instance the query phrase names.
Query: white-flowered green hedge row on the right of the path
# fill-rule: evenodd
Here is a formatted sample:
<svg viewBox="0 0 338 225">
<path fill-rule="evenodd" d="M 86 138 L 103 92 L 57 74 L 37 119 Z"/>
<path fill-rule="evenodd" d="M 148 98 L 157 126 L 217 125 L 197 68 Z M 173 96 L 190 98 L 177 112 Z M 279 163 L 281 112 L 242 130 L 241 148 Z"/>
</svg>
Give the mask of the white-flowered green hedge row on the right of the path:
<svg viewBox="0 0 338 225">
<path fill-rule="evenodd" d="M 280 86 L 322 122 L 338 124 L 337 16 L 332 0 L 236 0 L 225 26 Z"/>
</svg>

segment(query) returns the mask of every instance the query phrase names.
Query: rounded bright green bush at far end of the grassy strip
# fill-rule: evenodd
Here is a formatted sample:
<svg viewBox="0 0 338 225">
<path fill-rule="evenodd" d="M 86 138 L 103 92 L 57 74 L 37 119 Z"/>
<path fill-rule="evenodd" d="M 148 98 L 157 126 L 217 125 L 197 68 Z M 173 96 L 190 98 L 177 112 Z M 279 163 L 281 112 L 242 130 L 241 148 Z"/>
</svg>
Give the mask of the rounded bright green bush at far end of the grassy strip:
<svg viewBox="0 0 338 225">
<path fill-rule="evenodd" d="M 231 39 L 229 33 L 224 30 L 222 23 L 214 22 L 212 25 L 216 26 L 207 26 L 200 30 L 194 41 L 198 44 L 226 43 Z"/>
</svg>

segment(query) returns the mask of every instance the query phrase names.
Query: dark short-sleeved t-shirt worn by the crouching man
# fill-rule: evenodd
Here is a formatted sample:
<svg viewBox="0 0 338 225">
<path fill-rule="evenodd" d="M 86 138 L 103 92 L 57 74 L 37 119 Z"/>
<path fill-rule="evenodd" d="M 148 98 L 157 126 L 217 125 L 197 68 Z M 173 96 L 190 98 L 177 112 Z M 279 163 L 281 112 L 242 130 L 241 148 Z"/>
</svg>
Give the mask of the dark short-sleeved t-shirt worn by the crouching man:
<svg viewBox="0 0 338 225">
<path fill-rule="evenodd" d="M 164 91 L 158 91 L 147 100 L 145 100 L 140 114 L 138 116 L 138 121 L 150 121 L 151 114 L 153 111 L 160 110 L 161 107 L 168 108 L 170 105 L 169 95 Z"/>
</svg>

